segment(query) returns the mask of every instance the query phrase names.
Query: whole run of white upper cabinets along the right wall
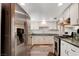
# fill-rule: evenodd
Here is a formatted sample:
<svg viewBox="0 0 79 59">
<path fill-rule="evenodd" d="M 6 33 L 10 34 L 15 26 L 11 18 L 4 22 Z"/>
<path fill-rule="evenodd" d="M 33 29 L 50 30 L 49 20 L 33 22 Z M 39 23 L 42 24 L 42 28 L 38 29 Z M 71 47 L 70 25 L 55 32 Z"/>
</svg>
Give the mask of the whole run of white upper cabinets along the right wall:
<svg viewBox="0 0 79 59">
<path fill-rule="evenodd" d="M 79 24 L 79 4 L 73 3 L 64 10 L 61 17 L 63 18 L 63 25 L 76 25 Z M 68 20 L 70 19 L 70 20 Z M 69 21 L 69 23 L 68 23 Z"/>
</svg>

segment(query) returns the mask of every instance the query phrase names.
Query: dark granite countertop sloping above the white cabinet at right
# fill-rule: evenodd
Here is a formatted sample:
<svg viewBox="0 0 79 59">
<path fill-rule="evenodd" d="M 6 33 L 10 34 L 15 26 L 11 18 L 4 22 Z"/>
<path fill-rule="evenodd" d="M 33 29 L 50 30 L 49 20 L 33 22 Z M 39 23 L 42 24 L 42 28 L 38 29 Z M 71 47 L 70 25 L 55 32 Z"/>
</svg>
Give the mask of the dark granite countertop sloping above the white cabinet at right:
<svg viewBox="0 0 79 59">
<path fill-rule="evenodd" d="M 63 40 L 65 42 L 69 43 L 69 44 L 72 44 L 76 47 L 79 47 L 79 40 L 75 40 L 74 38 L 72 39 L 71 37 L 68 37 L 68 38 L 62 37 L 62 36 L 56 36 L 56 37 L 60 38 L 60 40 Z"/>
</svg>

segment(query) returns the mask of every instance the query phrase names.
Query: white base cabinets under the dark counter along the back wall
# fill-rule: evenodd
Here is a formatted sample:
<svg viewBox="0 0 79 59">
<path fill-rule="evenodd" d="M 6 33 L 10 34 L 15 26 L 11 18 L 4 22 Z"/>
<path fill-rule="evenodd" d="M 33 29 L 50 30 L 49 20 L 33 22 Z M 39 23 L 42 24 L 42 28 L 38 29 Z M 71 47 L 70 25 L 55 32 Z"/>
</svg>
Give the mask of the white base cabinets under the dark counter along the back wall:
<svg viewBox="0 0 79 59">
<path fill-rule="evenodd" d="M 32 36 L 32 44 L 54 44 L 53 36 Z"/>
</svg>

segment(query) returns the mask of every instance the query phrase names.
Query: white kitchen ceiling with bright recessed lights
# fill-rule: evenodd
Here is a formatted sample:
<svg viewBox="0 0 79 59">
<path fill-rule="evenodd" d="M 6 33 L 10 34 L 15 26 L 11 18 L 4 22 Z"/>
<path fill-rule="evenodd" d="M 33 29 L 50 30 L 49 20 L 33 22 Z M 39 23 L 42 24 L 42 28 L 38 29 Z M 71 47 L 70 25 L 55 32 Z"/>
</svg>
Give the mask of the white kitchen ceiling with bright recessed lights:
<svg viewBox="0 0 79 59">
<path fill-rule="evenodd" d="M 31 17 L 33 21 L 40 20 L 55 20 L 54 18 L 67 8 L 70 3 L 63 3 L 58 7 L 58 3 L 25 3 L 25 5 L 19 4 Z"/>
</svg>

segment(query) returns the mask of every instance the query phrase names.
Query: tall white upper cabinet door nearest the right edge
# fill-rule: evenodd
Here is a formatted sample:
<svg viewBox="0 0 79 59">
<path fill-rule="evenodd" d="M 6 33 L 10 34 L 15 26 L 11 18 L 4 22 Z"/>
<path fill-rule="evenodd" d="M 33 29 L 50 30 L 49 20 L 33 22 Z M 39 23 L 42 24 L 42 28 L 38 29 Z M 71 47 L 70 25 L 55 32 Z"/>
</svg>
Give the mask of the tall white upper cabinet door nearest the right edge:
<svg viewBox="0 0 79 59">
<path fill-rule="evenodd" d="M 72 4 L 69 9 L 71 25 L 75 25 L 78 23 L 78 4 Z"/>
</svg>

